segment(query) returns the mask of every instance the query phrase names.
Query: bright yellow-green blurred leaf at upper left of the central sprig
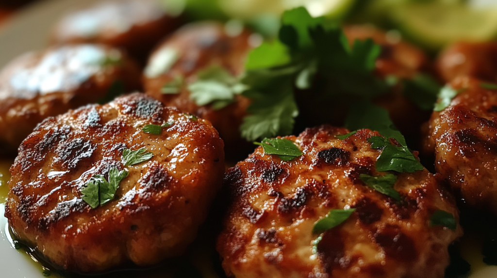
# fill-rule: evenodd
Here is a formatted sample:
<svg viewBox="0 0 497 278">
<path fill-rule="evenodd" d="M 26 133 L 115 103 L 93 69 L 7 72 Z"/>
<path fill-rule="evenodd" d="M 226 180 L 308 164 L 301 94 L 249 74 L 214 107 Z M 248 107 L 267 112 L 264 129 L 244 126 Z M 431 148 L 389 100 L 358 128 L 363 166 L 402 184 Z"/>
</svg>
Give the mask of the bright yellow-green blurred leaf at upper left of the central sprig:
<svg viewBox="0 0 497 278">
<path fill-rule="evenodd" d="M 287 47 L 281 42 L 264 42 L 248 54 L 245 68 L 246 70 L 253 70 L 276 67 L 289 63 L 290 59 Z"/>
</svg>

